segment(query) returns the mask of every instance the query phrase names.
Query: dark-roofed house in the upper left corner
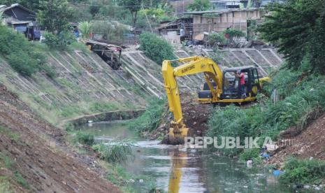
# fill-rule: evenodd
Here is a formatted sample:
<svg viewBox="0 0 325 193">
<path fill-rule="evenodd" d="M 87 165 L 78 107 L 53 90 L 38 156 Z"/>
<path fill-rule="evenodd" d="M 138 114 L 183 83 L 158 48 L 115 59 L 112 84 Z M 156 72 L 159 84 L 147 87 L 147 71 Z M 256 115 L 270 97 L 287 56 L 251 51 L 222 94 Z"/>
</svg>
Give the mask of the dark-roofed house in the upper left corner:
<svg viewBox="0 0 325 193">
<path fill-rule="evenodd" d="M 15 31 L 21 32 L 29 39 L 39 39 L 41 34 L 36 27 L 36 13 L 18 3 L 11 6 L 0 6 L 4 21 Z"/>
</svg>

